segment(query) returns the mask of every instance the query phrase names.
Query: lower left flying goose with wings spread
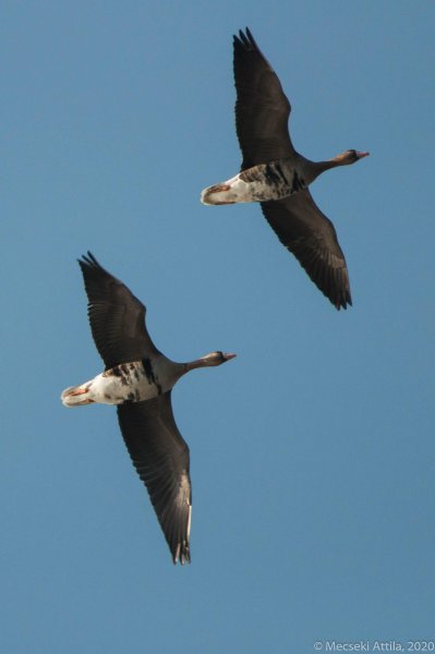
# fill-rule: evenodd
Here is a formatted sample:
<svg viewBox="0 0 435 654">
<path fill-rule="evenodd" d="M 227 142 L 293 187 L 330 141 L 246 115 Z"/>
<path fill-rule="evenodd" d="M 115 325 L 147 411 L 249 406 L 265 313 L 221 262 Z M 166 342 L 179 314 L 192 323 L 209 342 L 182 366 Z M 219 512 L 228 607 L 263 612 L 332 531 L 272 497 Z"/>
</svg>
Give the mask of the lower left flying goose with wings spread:
<svg viewBox="0 0 435 654">
<path fill-rule="evenodd" d="M 189 363 L 170 361 L 157 350 L 145 325 L 146 307 L 94 255 L 78 259 L 87 293 L 87 313 L 104 373 L 67 388 L 65 407 L 116 404 L 121 433 L 172 554 L 189 564 L 192 491 L 189 447 L 171 407 L 171 390 L 182 375 L 217 366 L 235 354 L 210 352 Z"/>
</svg>

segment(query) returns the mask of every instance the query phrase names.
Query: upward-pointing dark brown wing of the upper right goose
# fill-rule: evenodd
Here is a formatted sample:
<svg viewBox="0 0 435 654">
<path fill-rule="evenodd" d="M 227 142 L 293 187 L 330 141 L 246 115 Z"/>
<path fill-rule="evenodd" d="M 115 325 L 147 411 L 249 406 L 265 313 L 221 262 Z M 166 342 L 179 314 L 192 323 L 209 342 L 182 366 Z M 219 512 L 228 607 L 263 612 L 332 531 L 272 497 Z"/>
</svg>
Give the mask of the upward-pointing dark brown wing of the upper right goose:
<svg viewBox="0 0 435 654">
<path fill-rule="evenodd" d="M 288 121 L 290 102 L 251 32 L 234 36 L 235 129 L 242 170 L 294 154 Z"/>
</svg>

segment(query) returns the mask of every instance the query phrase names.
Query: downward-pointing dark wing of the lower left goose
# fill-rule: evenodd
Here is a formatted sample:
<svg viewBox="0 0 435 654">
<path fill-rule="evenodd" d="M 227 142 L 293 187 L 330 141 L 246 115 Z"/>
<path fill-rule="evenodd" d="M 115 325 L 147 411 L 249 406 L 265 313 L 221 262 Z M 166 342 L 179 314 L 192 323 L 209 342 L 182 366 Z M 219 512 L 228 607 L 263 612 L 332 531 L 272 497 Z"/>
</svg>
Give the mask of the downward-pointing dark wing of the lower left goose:
<svg viewBox="0 0 435 654">
<path fill-rule="evenodd" d="M 189 564 L 190 457 L 173 419 L 171 392 L 154 400 L 120 404 L 118 420 L 133 464 L 148 489 L 172 560 Z"/>
</svg>

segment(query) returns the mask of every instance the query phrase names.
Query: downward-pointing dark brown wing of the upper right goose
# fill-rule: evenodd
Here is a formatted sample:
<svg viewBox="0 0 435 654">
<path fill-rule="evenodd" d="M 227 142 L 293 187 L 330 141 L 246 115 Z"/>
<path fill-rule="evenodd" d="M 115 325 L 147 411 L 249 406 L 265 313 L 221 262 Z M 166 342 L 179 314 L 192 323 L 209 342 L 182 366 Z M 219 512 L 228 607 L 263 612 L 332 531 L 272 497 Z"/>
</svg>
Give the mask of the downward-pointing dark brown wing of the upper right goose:
<svg viewBox="0 0 435 654">
<path fill-rule="evenodd" d="M 263 214 L 314 283 L 339 310 L 352 304 L 345 255 L 331 221 L 304 189 L 283 199 L 263 202 Z"/>
</svg>

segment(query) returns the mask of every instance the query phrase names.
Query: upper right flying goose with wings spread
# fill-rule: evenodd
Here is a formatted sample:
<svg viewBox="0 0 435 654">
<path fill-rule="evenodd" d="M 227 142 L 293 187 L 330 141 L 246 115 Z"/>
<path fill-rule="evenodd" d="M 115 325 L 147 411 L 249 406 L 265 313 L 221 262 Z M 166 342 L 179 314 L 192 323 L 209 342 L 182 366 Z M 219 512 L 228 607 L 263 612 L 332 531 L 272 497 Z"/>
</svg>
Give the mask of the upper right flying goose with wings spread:
<svg viewBox="0 0 435 654">
<path fill-rule="evenodd" d="M 281 243 L 337 310 L 352 304 L 348 268 L 333 222 L 315 204 L 309 185 L 325 170 L 355 164 L 370 153 L 348 149 L 311 161 L 293 147 L 291 106 L 277 74 L 246 27 L 233 37 L 235 129 L 241 172 L 205 189 L 205 205 L 259 202 Z"/>
</svg>

